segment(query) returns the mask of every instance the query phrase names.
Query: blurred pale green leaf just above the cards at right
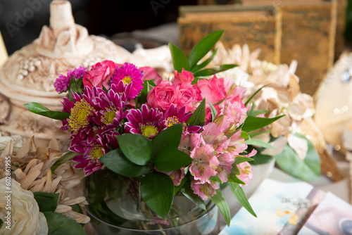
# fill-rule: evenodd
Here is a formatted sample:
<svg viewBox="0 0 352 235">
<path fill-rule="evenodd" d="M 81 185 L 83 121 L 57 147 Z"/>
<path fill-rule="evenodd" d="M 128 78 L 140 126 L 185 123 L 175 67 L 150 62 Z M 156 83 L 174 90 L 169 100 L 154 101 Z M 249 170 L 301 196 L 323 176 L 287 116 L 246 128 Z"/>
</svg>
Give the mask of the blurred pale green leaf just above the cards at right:
<svg viewBox="0 0 352 235">
<path fill-rule="evenodd" d="M 281 153 L 275 155 L 275 160 L 284 172 L 298 179 L 304 181 L 320 179 L 320 156 L 310 141 L 308 141 L 308 151 L 303 161 L 288 144 L 284 146 Z"/>
</svg>

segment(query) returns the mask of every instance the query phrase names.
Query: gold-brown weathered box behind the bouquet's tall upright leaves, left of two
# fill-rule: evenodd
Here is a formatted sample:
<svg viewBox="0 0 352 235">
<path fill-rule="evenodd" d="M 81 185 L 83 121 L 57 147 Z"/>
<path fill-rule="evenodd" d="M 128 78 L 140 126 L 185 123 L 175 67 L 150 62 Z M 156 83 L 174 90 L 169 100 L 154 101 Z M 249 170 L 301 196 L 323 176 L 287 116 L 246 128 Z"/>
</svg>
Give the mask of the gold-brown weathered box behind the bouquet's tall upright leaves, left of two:
<svg viewBox="0 0 352 235">
<path fill-rule="evenodd" d="M 260 59 L 279 63 L 281 14 L 272 6 L 181 6 L 178 24 L 180 47 L 187 54 L 202 37 L 225 30 L 220 41 L 226 48 L 248 44 L 262 49 Z"/>
</svg>

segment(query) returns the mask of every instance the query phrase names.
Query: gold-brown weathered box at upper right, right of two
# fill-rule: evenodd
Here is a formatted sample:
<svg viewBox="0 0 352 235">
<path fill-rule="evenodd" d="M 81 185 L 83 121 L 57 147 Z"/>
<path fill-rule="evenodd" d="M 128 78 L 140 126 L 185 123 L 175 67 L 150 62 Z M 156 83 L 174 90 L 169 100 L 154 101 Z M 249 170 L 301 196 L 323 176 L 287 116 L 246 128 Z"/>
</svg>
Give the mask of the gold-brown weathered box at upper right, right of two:
<svg viewBox="0 0 352 235">
<path fill-rule="evenodd" d="M 268 0 L 243 0 L 244 6 L 268 4 Z M 334 0 L 281 0 L 281 63 L 298 61 L 296 75 L 301 91 L 314 95 L 334 63 L 337 4 Z"/>
</svg>

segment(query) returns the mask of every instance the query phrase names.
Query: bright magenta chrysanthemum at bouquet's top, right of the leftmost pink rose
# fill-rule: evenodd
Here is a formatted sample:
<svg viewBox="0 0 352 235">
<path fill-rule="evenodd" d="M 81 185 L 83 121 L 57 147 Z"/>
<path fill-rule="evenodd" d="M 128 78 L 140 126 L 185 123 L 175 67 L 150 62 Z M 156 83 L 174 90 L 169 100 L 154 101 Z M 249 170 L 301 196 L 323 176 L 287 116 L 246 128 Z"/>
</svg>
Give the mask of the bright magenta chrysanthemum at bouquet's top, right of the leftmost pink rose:
<svg viewBox="0 0 352 235">
<path fill-rule="evenodd" d="M 124 63 L 121 67 L 116 68 L 111 84 L 118 84 L 122 81 L 124 84 L 132 83 L 130 94 L 127 98 L 134 99 L 143 89 L 143 73 L 136 65 L 132 63 Z"/>
</svg>

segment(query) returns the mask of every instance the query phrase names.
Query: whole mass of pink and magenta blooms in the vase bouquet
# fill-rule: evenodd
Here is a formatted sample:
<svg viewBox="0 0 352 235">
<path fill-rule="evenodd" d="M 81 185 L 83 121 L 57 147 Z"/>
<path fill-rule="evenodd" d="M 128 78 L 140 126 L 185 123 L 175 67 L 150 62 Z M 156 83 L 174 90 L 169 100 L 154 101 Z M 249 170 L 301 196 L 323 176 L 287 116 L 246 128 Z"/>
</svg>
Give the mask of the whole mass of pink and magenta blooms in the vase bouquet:
<svg viewBox="0 0 352 235">
<path fill-rule="evenodd" d="M 56 90 L 67 91 L 71 77 L 82 79 L 84 91 L 72 94 L 72 99 L 63 99 L 63 111 L 70 113 L 70 117 L 63 121 L 62 129 L 70 129 L 70 151 L 79 153 L 73 158 L 77 162 L 75 167 L 84 169 L 86 175 L 102 167 L 99 161 L 102 155 L 111 148 L 119 148 L 116 135 L 143 134 L 153 139 L 164 129 L 184 123 L 179 149 L 193 161 L 187 167 L 165 173 L 179 185 L 189 171 L 193 177 L 191 188 L 206 200 L 219 187 L 210 178 L 227 182 L 235 158 L 247 148 L 240 137 L 241 129 L 233 134 L 246 119 L 247 108 L 241 101 L 246 90 L 226 77 L 214 75 L 210 80 L 191 84 L 194 75 L 182 70 L 175 71 L 172 81 L 162 81 L 153 68 L 103 61 L 90 70 L 80 67 L 68 71 L 67 76 L 61 75 L 54 84 Z M 156 87 L 149 91 L 147 102 L 137 107 L 134 98 L 139 96 L 145 80 L 154 80 Z M 206 99 L 205 125 L 187 126 L 185 123 L 203 98 Z M 217 110 L 216 117 L 212 116 L 209 103 Z M 255 154 L 252 151 L 240 156 Z M 237 177 L 248 184 L 252 177 L 251 165 L 245 162 L 237 167 L 240 173 Z"/>
</svg>

